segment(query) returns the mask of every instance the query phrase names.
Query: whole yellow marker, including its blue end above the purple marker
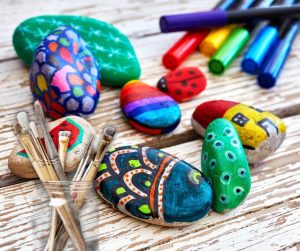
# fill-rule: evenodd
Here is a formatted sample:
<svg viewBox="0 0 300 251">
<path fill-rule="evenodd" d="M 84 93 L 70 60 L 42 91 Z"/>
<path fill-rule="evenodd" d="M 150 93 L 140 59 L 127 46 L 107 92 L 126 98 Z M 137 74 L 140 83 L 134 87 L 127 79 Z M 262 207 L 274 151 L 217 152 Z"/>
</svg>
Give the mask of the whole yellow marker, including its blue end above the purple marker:
<svg viewBox="0 0 300 251">
<path fill-rule="evenodd" d="M 231 9 L 245 10 L 248 9 L 254 2 L 255 0 L 240 1 L 236 6 L 233 6 L 233 8 Z M 227 37 L 236 27 L 238 27 L 238 25 L 231 24 L 212 30 L 200 44 L 200 52 L 206 56 L 211 57 L 221 47 L 221 45 L 225 42 Z"/>
</svg>

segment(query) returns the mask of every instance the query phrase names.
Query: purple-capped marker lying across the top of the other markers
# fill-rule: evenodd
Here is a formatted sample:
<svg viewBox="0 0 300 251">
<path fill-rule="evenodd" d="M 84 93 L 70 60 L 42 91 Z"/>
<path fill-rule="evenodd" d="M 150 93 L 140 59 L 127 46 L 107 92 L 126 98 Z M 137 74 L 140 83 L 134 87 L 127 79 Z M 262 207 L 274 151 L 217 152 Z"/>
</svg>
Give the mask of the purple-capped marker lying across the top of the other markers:
<svg viewBox="0 0 300 251">
<path fill-rule="evenodd" d="M 235 23 L 251 23 L 254 20 L 270 20 L 282 17 L 297 17 L 300 5 L 272 8 L 250 8 L 247 10 L 213 10 L 188 14 L 162 16 L 162 32 L 186 31 L 213 28 Z"/>
</svg>

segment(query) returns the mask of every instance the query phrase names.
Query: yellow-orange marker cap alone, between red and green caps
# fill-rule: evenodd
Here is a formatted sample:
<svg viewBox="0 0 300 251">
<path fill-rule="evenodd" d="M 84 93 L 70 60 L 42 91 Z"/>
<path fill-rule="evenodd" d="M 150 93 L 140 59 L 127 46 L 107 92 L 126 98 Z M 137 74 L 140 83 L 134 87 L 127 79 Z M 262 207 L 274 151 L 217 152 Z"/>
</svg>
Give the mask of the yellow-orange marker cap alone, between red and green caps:
<svg viewBox="0 0 300 251">
<path fill-rule="evenodd" d="M 227 25 L 219 29 L 212 30 L 199 46 L 200 52 L 211 57 L 226 41 L 233 29 L 237 25 Z"/>
</svg>

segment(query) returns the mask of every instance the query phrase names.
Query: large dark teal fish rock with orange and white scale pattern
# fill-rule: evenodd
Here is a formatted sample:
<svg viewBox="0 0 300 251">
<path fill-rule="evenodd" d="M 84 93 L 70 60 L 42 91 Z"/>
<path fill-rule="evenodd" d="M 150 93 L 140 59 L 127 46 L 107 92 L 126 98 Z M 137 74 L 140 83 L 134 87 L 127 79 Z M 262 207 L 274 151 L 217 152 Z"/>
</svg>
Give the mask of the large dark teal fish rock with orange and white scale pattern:
<svg viewBox="0 0 300 251">
<path fill-rule="evenodd" d="M 192 223 L 212 203 L 211 185 L 199 170 L 148 147 L 111 149 L 99 166 L 95 186 L 114 208 L 158 225 Z"/>
</svg>

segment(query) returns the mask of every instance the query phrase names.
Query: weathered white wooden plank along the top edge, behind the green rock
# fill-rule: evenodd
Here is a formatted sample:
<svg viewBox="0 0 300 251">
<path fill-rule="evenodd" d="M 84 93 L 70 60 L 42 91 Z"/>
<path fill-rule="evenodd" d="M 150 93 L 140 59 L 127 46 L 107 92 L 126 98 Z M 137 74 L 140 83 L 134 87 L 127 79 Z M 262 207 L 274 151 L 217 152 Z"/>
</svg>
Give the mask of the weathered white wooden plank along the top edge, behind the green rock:
<svg viewBox="0 0 300 251">
<path fill-rule="evenodd" d="M 151 34 L 157 34 L 158 19 L 161 15 L 170 13 L 183 13 L 195 10 L 211 8 L 217 0 L 202 0 L 201 4 L 193 1 L 118 1 L 117 5 L 110 1 L 91 0 L 88 2 L 75 0 L 70 6 L 69 2 L 59 0 L 51 1 L 47 5 L 42 2 L 28 4 L 27 1 L 14 2 L 14 15 L 11 15 L 12 7 L 10 1 L 4 1 L 0 15 L 2 25 L 0 27 L 0 61 L 16 58 L 12 47 L 12 34 L 23 20 L 45 14 L 69 14 L 83 15 L 100 19 L 115 25 L 130 38 L 141 38 Z"/>
</svg>

